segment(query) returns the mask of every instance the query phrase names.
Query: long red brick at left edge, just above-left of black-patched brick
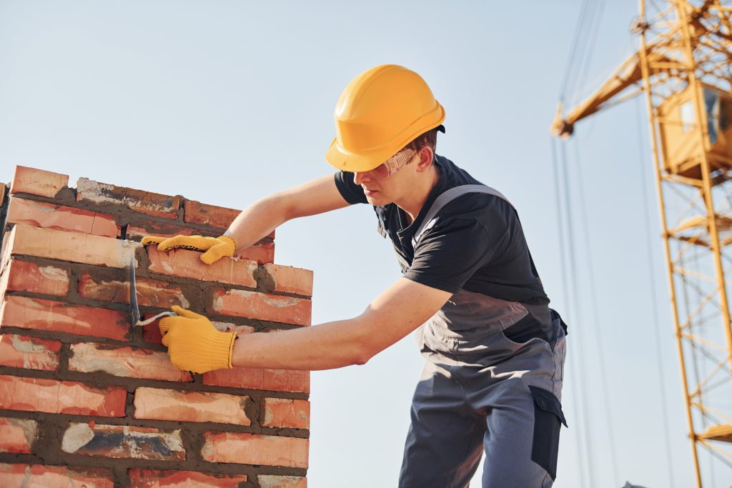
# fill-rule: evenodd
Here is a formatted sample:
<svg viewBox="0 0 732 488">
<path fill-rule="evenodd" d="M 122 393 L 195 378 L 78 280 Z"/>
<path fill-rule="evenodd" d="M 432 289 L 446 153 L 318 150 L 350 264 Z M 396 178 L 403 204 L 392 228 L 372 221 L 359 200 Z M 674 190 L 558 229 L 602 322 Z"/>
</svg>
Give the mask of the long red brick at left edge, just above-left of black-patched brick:
<svg viewBox="0 0 732 488">
<path fill-rule="evenodd" d="M 127 391 L 117 386 L 0 376 L 0 408 L 7 410 L 124 417 L 125 399 Z"/>
</svg>

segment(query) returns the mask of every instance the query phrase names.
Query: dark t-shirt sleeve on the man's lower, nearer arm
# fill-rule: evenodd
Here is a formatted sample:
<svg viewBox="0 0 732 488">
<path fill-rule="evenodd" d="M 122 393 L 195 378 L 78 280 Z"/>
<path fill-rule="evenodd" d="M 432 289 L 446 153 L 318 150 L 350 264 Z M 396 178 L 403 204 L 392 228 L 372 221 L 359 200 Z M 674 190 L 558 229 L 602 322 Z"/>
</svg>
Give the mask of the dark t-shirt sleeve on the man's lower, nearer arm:
<svg viewBox="0 0 732 488">
<path fill-rule="evenodd" d="M 458 293 L 478 269 L 490 264 L 503 241 L 505 223 L 490 226 L 471 217 L 451 217 L 427 230 L 404 277 Z"/>
</svg>

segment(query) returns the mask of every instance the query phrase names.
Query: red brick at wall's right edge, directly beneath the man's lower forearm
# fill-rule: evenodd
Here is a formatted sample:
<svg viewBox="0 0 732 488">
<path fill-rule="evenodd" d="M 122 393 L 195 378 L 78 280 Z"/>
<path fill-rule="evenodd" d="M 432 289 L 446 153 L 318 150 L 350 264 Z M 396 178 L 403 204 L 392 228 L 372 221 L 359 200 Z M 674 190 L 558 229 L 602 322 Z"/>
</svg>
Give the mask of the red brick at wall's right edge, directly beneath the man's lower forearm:
<svg viewBox="0 0 732 488">
<path fill-rule="evenodd" d="M 296 369 L 214 369 L 203 374 L 203 384 L 272 391 L 310 391 L 310 372 Z"/>
</svg>

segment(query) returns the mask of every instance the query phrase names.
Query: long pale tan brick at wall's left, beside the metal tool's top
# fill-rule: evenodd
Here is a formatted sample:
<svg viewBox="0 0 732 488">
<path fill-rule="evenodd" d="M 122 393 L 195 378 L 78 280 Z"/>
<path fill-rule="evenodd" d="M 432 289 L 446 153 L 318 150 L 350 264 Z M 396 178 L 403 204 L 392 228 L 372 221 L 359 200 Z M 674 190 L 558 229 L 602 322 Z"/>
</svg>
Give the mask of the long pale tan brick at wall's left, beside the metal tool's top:
<svg viewBox="0 0 732 488">
<path fill-rule="evenodd" d="M 23 224 L 12 228 L 9 239 L 7 245 L 14 255 L 31 255 L 111 268 L 129 267 L 135 249 L 141 246 L 138 242 L 122 239 Z"/>
</svg>

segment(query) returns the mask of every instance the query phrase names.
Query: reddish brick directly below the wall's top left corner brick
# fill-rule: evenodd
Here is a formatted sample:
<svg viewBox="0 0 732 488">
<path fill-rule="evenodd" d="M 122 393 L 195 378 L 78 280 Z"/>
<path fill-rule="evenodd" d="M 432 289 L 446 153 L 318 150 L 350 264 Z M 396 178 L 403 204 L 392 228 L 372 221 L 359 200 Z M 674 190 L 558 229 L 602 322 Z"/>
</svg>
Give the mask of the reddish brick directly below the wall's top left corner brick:
<svg viewBox="0 0 732 488">
<path fill-rule="evenodd" d="M 93 211 L 35 202 L 23 198 L 10 199 L 7 222 L 48 229 L 70 230 L 94 236 L 117 237 L 119 227 L 112 217 Z"/>
</svg>

